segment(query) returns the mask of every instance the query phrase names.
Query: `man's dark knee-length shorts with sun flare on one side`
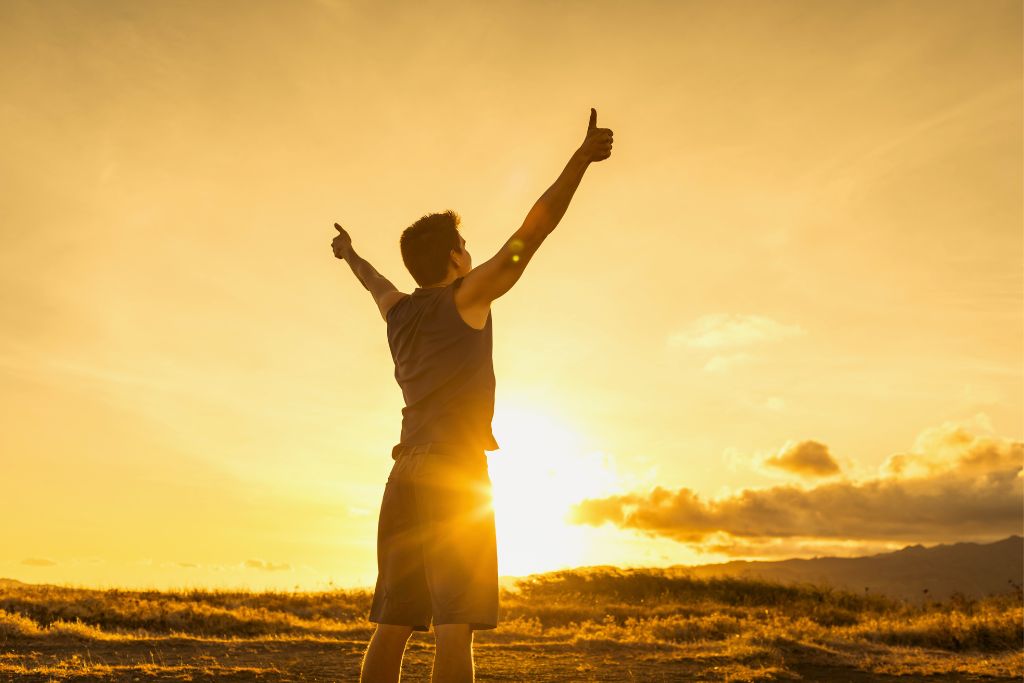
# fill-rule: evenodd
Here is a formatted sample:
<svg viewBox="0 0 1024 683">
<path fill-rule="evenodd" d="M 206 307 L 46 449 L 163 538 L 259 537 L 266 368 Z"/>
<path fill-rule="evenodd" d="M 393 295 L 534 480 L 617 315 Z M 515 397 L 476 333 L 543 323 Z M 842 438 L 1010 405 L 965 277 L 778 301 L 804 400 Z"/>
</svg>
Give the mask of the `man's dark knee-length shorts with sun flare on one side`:
<svg viewBox="0 0 1024 683">
<path fill-rule="evenodd" d="M 487 457 L 400 455 L 377 526 L 371 622 L 429 631 L 498 627 L 498 544 Z"/>
</svg>

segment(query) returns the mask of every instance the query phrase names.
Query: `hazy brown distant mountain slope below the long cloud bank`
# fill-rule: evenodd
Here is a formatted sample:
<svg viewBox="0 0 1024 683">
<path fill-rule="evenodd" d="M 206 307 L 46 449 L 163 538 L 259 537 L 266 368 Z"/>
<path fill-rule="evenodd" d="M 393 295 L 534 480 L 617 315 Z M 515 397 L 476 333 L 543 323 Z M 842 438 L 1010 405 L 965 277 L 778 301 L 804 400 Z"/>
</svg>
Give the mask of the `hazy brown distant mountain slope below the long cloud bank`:
<svg viewBox="0 0 1024 683">
<path fill-rule="evenodd" d="M 884 593 L 911 600 L 1007 593 L 1024 584 L 1024 538 L 989 544 L 907 546 L 865 557 L 815 557 L 780 561 L 732 561 L 673 567 L 692 577 L 743 577 L 783 583 L 830 584 L 857 593 Z M 927 590 L 927 593 L 926 593 Z"/>
</svg>

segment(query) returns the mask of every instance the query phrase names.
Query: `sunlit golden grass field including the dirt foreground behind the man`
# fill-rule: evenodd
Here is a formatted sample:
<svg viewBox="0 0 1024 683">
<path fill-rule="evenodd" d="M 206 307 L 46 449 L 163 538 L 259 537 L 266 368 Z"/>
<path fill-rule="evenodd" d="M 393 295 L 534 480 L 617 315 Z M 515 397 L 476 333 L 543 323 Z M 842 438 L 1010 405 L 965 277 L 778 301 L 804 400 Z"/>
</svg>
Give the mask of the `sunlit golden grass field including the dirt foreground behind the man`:
<svg viewBox="0 0 1024 683">
<path fill-rule="evenodd" d="M 0 587 L 0 681 L 355 681 L 365 591 Z M 664 569 L 536 574 L 475 632 L 480 681 L 1019 681 L 1020 590 L 910 604 Z M 402 681 L 428 681 L 415 633 Z M 899 677 L 899 678 L 897 678 Z"/>
</svg>

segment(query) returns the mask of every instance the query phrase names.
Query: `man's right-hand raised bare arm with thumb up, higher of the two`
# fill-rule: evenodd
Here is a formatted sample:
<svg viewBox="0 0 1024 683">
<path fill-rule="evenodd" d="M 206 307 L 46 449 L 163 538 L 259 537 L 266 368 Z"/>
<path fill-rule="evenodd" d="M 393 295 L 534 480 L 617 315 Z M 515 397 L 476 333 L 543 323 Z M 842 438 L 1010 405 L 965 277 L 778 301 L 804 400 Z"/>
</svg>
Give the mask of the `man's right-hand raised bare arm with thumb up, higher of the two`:
<svg viewBox="0 0 1024 683">
<path fill-rule="evenodd" d="M 519 229 L 489 260 L 473 268 L 456 291 L 456 303 L 464 316 L 485 319 L 490 302 L 518 282 L 541 243 L 565 215 L 584 172 L 592 162 L 611 156 L 611 129 L 598 128 L 597 111 L 591 109 L 587 136 L 561 175 L 529 210 Z"/>
</svg>

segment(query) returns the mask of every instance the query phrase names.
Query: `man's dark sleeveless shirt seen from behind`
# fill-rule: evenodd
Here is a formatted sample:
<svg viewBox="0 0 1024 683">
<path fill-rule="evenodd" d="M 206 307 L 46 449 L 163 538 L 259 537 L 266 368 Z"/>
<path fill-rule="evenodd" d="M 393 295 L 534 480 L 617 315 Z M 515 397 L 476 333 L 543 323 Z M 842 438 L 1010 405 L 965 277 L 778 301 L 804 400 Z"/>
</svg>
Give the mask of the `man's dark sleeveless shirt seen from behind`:
<svg viewBox="0 0 1024 683">
<path fill-rule="evenodd" d="M 495 451 L 495 370 L 490 314 L 482 330 L 459 314 L 455 291 L 418 287 L 387 312 L 394 378 L 401 387 L 401 439 L 395 446 L 442 442 Z"/>
</svg>

